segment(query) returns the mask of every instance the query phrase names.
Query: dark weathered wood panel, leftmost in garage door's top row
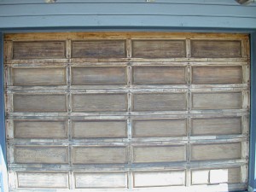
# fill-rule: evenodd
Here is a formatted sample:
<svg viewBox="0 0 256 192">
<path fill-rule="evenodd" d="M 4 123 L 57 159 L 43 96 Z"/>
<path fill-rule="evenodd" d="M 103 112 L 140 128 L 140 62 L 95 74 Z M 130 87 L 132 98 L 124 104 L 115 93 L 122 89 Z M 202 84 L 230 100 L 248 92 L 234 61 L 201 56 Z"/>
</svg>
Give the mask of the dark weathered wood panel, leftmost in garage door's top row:
<svg viewBox="0 0 256 192">
<path fill-rule="evenodd" d="M 61 41 L 14 42 L 13 59 L 65 58 L 66 45 Z"/>
</svg>

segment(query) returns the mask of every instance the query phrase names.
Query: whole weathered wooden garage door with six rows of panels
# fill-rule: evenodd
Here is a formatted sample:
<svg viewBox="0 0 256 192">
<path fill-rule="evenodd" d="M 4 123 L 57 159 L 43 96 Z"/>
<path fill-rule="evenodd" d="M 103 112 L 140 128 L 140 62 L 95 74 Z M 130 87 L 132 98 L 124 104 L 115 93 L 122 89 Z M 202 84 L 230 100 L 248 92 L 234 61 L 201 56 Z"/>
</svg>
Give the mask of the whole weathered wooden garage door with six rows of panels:
<svg viewBox="0 0 256 192">
<path fill-rule="evenodd" d="M 4 52 L 11 191 L 247 189 L 247 35 L 7 34 Z"/>
</svg>

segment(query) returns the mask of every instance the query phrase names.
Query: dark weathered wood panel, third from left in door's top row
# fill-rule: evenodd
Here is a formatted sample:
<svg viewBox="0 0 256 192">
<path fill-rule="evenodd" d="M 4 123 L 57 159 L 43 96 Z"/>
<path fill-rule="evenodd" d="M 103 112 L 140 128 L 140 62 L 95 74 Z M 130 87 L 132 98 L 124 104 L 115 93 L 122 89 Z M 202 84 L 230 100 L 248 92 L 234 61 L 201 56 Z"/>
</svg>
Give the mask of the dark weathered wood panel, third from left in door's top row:
<svg viewBox="0 0 256 192">
<path fill-rule="evenodd" d="M 170 58 L 185 56 L 184 40 L 132 40 L 132 57 Z"/>
</svg>

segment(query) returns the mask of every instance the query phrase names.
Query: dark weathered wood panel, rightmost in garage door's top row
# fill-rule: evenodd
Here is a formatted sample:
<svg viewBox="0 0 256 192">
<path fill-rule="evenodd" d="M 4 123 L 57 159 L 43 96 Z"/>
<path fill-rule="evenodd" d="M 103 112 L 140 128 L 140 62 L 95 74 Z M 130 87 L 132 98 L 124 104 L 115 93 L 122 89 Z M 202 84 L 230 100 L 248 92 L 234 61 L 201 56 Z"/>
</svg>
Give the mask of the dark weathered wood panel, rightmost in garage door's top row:
<svg viewBox="0 0 256 192">
<path fill-rule="evenodd" d="M 192 57 L 241 57 L 240 40 L 191 40 Z"/>
</svg>

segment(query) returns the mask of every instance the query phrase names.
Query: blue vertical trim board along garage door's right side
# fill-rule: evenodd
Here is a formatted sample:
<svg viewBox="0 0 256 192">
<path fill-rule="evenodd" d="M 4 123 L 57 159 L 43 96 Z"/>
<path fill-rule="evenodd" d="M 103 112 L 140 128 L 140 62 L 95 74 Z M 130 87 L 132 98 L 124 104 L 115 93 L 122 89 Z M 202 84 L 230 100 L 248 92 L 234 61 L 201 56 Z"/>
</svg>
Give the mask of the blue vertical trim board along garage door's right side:
<svg viewBox="0 0 256 192">
<path fill-rule="evenodd" d="M 256 32 L 251 33 L 251 130 L 249 191 L 256 191 Z"/>
</svg>

